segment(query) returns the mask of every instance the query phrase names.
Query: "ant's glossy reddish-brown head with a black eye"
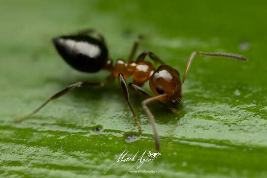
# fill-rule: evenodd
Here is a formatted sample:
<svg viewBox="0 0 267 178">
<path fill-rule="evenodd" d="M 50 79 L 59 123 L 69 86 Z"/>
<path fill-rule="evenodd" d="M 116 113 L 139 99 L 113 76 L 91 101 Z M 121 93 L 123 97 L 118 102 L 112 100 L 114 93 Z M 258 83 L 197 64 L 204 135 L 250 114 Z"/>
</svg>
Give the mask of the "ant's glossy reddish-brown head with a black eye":
<svg viewBox="0 0 267 178">
<path fill-rule="evenodd" d="M 181 83 L 177 70 L 169 65 L 161 65 L 149 80 L 150 89 L 155 95 L 167 94 L 162 100 L 178 104 L 181 100 Z"/>
</svg>

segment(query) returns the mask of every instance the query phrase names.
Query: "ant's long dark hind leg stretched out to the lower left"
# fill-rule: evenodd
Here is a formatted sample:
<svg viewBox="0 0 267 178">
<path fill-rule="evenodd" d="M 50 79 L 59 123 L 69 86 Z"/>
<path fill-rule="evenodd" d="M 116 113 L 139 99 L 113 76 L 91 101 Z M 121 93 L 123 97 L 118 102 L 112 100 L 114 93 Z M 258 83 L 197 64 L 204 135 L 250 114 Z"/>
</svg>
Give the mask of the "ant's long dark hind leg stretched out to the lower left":
<svg viewBox="0 0 267 178">
<path fill-rule="evenodd" d="M 36 110 L 34 110 L 32 113 L 23 116 L 23 117 L 18 117 L 15 118 L 15 122 L 18 121 L 22 121 L 30 116 L 32 116 L 33 114 L 37 113 L 40 109 L 42 109 L 49 101 L 56 99 L 64 94 L 66 94 L 67 92 L 75 89 L 75 88 L 79 88 L 79 87 L 102 87 L 108 83 L 110 83 L 111 81 L 113 81 L 113 77 L 109 76 L 103 83 L 89 83 L 89 82 L 77 82 L 76 84 L 70 85 L 68 87 L 66 87 L 65 89 L 62 89 L 61 91 L 57 92 L 56 94 L 54 94 L 52 97 L 50 97 L 48 100 L 46 100 L 41 106 L 39 106 Z"/>
</svg>

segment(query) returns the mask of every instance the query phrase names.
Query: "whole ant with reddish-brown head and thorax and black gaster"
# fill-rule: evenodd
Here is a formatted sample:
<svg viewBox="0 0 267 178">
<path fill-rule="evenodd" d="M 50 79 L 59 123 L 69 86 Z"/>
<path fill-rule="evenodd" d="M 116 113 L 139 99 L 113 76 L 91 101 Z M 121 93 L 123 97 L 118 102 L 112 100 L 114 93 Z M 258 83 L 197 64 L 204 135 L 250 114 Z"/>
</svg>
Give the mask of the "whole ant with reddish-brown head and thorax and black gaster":
<svg viewBox="0 0 267 178">
<path fill-rule="evenodd" d="M 89 34 L 96 34 L 99 39 L 93 38 L 89 36 Z M 160 58 L 152 52 L 144 51 L 137 57 L 136 61 L 133 61 L 141 38 L 142 37 L 139 36 L 135 40 L 134 46 L 128 58 L 128 62 L 123 59 L 118 59 L 114 65 L 112 65 L 112 60 L 108 57 L 108 50 L 105 45 L 104 37 L 97 30 L 88 29 L 80 31 L 77 34 L 53 38 L 52 42 L 55 48 L 57 49 L 57 52 L 73 68 L 81 72 L 88 73 L 95 73 L 101 69 L 104 69 L 111 72 L 111 75 L 107 77 L 106 80 L 102 83 L 77 82 L 76 84 L 70 85 L 54 94 L 32 113 L 24 117 L 16 118 L 15 121 L 22 121 L 32 116 L 41 108 L 43 108 L 49 101 L 66 94 L 72 89 L 79 87 L 103 87 L 113 82 L 115 78 L 118 78 L 120 87 L 123 90 L 124 97 L 135 118 L 138 130 L 141 131 L 141 126 L 138 121 L 138 118 L 134 114 L 134 110 L 130 104 L 129 92 L 125 82 L 127 78 L 133 75 L 134 82 L 129 84 L 129 88 L 138 91 L 139 94 L 147 98 L 142 102 L 142 107 L 152 125 L 155 146 L 156 150 L 158 151 L 160 149 L 159 137 L 155 126 L 154 116 L 148 109 L 147 104 L 149 102 L 156 101 L 170 109 L 172 112 L 179 114 L 179 112 L 175 108 L 171 107 L 170 105 L 167 105 L 166 103 L 161 102 L 159 99 L 163 101 L 168 101 L 173 105 L 177 105 L 178 103 L 180 103 L 181 86 L 184 83 L 191 63 L 197 54 L 205 56 L 226 57 L 237 59 L 240 61 L 247 61 L 244 56 L 239 54 L 195 51 L 192 52 L 192 54 L 190 55 L 183 78 L 180 81 L 179 72 L 171 66 L 164 64 L 160 60 Z M 161 63 L 162 65 L 155 70 L 152 63 L 144 60 L 146 56 L 148 56 L 155 62 Z M 147 91 L 141 88 L 141 86 L 147 81 L 149 81 L 150 89 L 156 96 L 151 96 Z"/>
</svg>

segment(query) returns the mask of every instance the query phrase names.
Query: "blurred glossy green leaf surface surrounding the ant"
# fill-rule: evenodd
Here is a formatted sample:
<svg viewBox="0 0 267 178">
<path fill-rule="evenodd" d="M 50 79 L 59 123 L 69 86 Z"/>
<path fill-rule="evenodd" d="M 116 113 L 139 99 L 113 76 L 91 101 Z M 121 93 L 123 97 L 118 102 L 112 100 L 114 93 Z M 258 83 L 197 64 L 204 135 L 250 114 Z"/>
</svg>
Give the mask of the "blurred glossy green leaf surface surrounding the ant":
<svg viewBox="0 0 267 178">
<path fill-rule="evenodd" d="M 100 89 L 76 89 L 21 123 L 49 96 L 78 81 L 99 82 L 107 72 L 69 67 L 50 40 L 96 28 L 110 57 L 153 51 L 183 74 L 192 51 L 232 52 L 248 63 L 197 56 L 171 113 L 149 104 L 161 139 L 161 155 L 127 178 L 267 177 L 266 1 L 9 0 L 0 2 L 0 176 L 12 178 L 120 178 L 133 163 L 108 167 L 125 150 L 155 151 L 152 129 L 130 93 L 137 127 L 118 81 Z M 129 78 L 127 82 L 132 82 Z M 146 84 L 144 89 L 149 90 Z M 101 131 L 94 131 L 101 127 Z M 131 139 L 132 134 L 137 138 Z M 135 167 L 132 170 L 136 170 Z"/>
</svg>

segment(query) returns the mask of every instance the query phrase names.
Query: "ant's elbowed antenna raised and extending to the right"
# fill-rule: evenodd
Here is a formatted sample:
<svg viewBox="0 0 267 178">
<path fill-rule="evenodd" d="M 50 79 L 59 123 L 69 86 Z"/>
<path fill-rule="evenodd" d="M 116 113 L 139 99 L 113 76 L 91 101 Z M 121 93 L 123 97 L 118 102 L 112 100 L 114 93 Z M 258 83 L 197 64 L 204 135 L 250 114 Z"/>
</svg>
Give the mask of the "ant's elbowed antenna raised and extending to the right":
<svg viewBox="0 0 267 178">
<path fill-rule="evenodd" d="M 231 54 L 231 53 L 224 53 L 224 52 L 201 52 L 201 51 L 194 51 L 192 52 L 192 54 L 190 55 L 189 59 L 188 59 L 188 62 L 187 62 L 187 65 L 186 65 L 186 69 L 185 69 L 185 72 L 184 72 L 184 75 L 183 75 L 183 78 L 182 78 L 182 81 L 181 81 L 181 84 L 184 83 L 184 80 L 185 80 L 185 77 L 189 71 L 189 68 L 190 68 L 190 65 L 195 57 L 196 54 L 199 54 L 199 55 L 205 55 L 205 56 L 219 56 L 219 57 L 226 57 L 226 58 L 231 58 L 231 59 L 237 59 L 237 60 L 240 60 L 240 61 L 248 61 L 248 59 L 242 55 L 239 55 L 239 54 Z"/>
</svg>

